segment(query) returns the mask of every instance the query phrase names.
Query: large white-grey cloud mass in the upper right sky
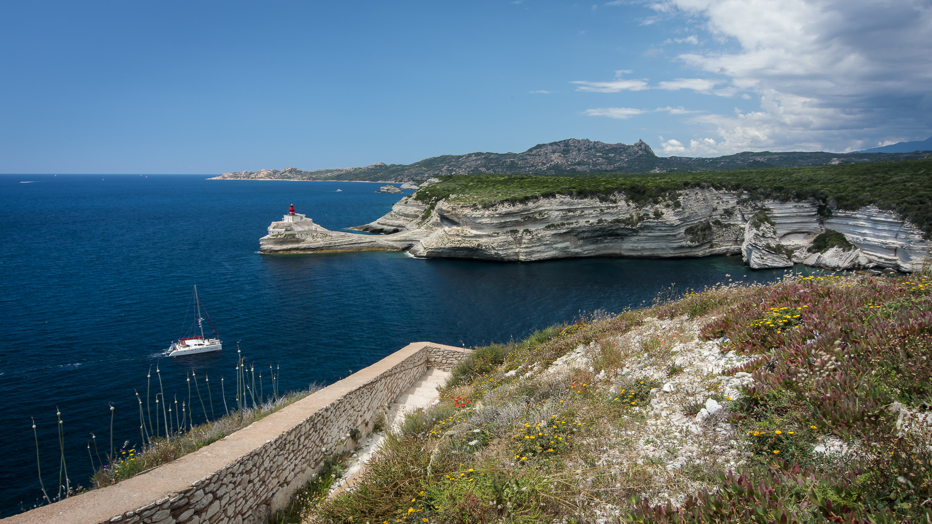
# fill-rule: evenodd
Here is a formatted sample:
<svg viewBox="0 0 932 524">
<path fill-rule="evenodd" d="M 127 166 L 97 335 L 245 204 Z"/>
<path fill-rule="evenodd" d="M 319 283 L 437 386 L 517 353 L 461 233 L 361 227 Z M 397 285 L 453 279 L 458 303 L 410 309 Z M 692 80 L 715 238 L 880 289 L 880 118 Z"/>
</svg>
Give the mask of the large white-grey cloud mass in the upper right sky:
<svg viewBox="0 0 932 524">
<path fill-rule="evenodd" d="M 929 0 L 665 0 L 651 7 L 705 21 L 723 42 L 678 57 L 719 81 L 677 79 L 657 88 L 761 101 L 760 111 L 691 117 L 719 140 L 668 140 L 664 152 L 849 151 L 932 131 Z"/>
</svg>

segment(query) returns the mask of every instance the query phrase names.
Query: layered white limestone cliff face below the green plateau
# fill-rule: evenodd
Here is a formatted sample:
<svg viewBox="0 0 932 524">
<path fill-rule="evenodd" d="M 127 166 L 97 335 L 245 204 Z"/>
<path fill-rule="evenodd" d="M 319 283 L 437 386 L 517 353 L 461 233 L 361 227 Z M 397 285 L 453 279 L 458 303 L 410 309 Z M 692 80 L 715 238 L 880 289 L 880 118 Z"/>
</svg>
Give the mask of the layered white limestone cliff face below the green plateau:
<svg viewBox="0 0 932 524">
<path fill-rule="evenodd" d="M 842 232 L 854 247 L 810 253 L 816 236 L 827 228 Z M 386 234 L 270 234 L 260 241 L 261 251 L 395 249 L 420 257 L 500 261 L 741 254 L 753 269 L 803 262 L 833 269 L 912 271 L 921 267 L 930 248 L 918 228 L 876 208 L 839 211 L 822 219 L 816 202 L 754 202 L 714 188 L 684 190 L 678 200 L 647 205 L 615 194 L 491 206 L 440 200 L 428 208 L 409 196 L 391 213 L 358 229 Z"/>
</svg>

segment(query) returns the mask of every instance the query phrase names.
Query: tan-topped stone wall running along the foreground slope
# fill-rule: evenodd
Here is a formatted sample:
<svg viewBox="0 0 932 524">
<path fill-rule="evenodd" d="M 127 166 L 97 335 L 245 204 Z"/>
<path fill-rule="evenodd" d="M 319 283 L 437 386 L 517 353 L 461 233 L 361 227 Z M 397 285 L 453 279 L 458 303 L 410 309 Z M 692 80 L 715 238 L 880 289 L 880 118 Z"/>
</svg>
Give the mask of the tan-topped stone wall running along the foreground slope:
<svg viewBox="0 0 932 524">
<path fill-rule="evenodd" d="M 324 459 L 372 429 L 428 367 L 469 350 L 415 342 L 210 446 L 153 471 L 4 519 L 8 524 L 254 524 L 284 507 Z"/>
</svg>

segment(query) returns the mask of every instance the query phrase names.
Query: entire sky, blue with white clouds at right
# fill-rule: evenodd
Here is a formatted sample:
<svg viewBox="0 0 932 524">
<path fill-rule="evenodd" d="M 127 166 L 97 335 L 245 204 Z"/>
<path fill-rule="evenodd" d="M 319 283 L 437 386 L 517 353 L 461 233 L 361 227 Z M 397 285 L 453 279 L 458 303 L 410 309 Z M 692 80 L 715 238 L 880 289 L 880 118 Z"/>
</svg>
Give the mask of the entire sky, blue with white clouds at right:
<svg viewBox="0 0 932 524">
<path fill-rule="evenodd" d="M 932 0 L 5 2 L 0 172 L 932 134 Z"/>
</svg>

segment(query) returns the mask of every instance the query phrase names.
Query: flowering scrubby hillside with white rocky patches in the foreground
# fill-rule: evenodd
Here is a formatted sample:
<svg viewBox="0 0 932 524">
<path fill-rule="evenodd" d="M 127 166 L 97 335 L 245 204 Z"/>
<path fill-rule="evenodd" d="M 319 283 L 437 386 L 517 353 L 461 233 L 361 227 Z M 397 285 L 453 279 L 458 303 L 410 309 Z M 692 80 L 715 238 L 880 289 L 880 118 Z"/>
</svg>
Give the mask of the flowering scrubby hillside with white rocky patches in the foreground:
<svg viewBox="0 0 932 524">
<path fill-rule="evenodd" d="M 308 522 L 927 522 L 932 279 L 723 284 L 479 348 Z"/>
</svg>

